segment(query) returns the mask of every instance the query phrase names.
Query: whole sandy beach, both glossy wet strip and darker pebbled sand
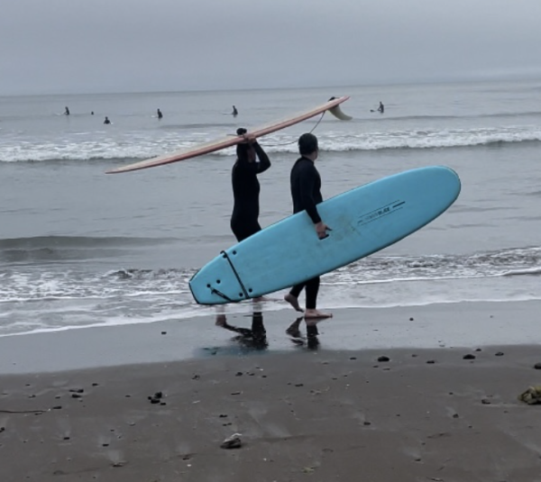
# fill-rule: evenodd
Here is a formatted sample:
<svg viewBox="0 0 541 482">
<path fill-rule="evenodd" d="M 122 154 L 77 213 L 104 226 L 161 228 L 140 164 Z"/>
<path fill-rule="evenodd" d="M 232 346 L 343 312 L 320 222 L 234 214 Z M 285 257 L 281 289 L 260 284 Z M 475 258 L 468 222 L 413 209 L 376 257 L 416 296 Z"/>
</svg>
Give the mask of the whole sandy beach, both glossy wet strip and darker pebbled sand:
<svg viewBox="0 0 541 482">
<path fill-rule="evenodd" d="M 189 343 L 171 322 L 3 337 L 0 480 L 537 480 L 541 408 L 518 395 L 541 385 L 539 305 L 336 310 L 316 328 L 285 310 L 262 343 L 213 316 Z"/>
</svg>

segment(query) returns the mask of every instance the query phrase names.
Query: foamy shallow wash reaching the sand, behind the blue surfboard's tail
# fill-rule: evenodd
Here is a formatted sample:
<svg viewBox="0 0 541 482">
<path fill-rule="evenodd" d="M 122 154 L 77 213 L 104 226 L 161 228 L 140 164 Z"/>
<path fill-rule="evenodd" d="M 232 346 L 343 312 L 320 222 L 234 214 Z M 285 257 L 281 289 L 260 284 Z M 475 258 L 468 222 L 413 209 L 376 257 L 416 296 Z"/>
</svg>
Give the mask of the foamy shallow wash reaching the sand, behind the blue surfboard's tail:
<svg viewBox="0 0 541 482">
<path fill-rule="evenodd" d="M 104 272 L 73 263 L 0 266 L 0 336 L 215 314 L 213 307 L 196 305 L 190 294 L 194 268 Z M 470 255 L 374 255 L 322 277 L 321 304 L 347 308 L 539 299 L 539 275 L 541 247 Z M 281 296 L 274 296 L 265 311 L 285 308 Z M 227 306 L 230 313 L 251 309 L 251 303 Z"/>
</svg>

